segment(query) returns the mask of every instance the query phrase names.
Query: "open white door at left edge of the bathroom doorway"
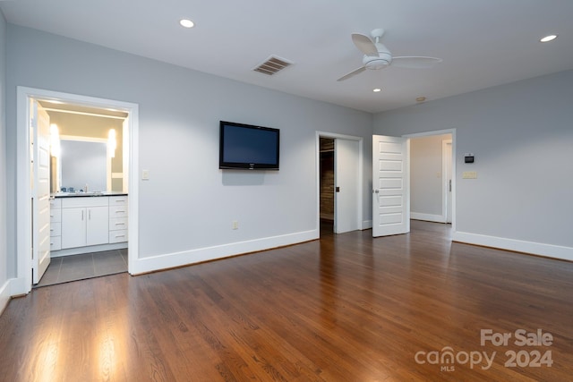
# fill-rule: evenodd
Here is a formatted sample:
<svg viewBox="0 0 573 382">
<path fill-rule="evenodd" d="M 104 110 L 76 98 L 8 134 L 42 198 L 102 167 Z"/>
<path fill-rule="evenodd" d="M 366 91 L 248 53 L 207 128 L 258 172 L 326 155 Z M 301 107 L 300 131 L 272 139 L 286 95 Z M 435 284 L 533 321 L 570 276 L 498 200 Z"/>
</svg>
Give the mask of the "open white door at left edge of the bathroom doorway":
<svg viewBox="0 0 573 382">
<path fill-rule="evenodd" d="M 32 283 L 38 284 L 50 264 L 50 118 L 30 101 L 32 136 Z"/>
</svg>

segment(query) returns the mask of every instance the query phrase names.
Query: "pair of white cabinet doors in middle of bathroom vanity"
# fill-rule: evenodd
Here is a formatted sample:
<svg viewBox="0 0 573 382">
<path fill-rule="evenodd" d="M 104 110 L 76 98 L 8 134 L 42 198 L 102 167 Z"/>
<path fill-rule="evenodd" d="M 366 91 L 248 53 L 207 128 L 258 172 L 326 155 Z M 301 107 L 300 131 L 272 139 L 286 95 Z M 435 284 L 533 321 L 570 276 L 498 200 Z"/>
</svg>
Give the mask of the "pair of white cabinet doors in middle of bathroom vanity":
<svg viewBox="0 0 573 382">
<path fill-rule="evenodd" d="M 62 199 L 62 249 L 106 244 L 108 208 L 107 197 Z"/>
</svg>

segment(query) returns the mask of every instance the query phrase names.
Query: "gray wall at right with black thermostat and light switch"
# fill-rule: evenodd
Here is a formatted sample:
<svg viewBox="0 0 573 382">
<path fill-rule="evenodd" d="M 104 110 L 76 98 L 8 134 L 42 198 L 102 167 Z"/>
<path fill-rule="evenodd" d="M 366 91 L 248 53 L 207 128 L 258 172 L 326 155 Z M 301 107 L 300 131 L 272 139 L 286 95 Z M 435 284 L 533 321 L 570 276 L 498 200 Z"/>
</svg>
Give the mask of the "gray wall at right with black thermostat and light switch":
<svg viewBox="0 0 573 382">
<path fill-rule="evenodd" d="M 573 247 L 573 71 L 374 116 L 374 133 L 456 129 L 457 231 Z M 475 164 L 463 162 L 475 154 Z M 476 171 L 477 179 L 462 179 Z M 573 257 L 572 257 L 573 259 Z"/>
</svg>

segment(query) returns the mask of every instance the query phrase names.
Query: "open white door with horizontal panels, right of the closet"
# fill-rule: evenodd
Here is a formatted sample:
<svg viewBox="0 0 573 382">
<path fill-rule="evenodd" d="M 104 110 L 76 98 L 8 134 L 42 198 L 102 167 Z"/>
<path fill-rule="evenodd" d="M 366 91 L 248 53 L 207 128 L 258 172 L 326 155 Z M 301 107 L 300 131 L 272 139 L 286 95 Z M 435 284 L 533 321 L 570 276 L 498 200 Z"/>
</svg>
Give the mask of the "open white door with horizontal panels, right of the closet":
<svg viewBox="0 0 573 382">
<path fill-rule="evenodd" d="M 372 136 L 372 236 L 410 232 L 409 141 Z"/>
</svg>

